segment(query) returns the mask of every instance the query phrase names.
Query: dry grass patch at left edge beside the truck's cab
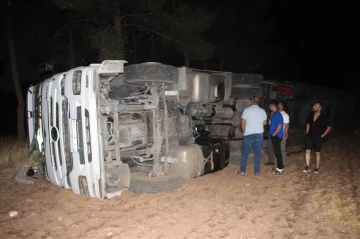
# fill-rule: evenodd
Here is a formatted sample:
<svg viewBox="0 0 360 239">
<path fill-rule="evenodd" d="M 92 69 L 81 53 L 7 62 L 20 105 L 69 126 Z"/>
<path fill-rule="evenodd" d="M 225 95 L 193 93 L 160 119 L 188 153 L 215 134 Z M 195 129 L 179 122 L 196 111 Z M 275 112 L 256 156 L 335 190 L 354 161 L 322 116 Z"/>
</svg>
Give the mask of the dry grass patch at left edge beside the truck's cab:
<svg viewBox="0 0 360 239">
<path fill-rule="evenodd" d="M 29 142 L 15 137 L 0 137 L 0 168 L 17 168 L 29 161 Z"/>
</svg>

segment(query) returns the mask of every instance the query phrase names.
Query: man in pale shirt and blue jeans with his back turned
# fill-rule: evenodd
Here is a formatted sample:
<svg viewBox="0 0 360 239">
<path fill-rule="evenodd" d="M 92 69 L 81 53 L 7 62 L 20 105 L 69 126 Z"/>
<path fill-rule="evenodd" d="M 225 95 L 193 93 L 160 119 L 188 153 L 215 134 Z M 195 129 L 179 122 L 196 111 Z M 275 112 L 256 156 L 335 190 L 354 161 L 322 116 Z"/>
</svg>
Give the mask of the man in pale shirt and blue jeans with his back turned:
<svg viewBox="0 0 360 239">
<path fill-rule="evenodd" d="M 254 173 L 260 175 L 261 150 L 264 142 L 264 125 L 267 122 L 267 116 L 264 109 L 259 107 L 260 98 L 250 98 L 250 106 L 246 108 L 241 117 L 241 130 L 243 132 L 243 141 L 240 157 L 240 172 L 245 175 L 248 156 L 254 151 Z"/>
</svg>

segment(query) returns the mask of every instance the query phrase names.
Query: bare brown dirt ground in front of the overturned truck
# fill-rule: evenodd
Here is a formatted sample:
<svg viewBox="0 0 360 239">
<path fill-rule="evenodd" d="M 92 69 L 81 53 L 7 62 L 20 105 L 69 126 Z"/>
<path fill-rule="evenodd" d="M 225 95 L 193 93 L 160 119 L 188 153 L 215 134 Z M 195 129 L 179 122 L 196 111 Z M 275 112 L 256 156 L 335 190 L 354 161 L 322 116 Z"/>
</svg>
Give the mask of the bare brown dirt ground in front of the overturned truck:
<svg viewBox="0 0 360 239">
<path fill-rule="evenodd" d="M 264 166 L 255 177 L 249 165 L 242 177 L 230 165 L 175 192 L 110 200 L 14 185 L 2 171 L 0 238 L 360 238 L 359 145 L 359 136 L 326 143 L 319 175 L 302 173 L 300 152 L 283 175 Z"/>
</svg>

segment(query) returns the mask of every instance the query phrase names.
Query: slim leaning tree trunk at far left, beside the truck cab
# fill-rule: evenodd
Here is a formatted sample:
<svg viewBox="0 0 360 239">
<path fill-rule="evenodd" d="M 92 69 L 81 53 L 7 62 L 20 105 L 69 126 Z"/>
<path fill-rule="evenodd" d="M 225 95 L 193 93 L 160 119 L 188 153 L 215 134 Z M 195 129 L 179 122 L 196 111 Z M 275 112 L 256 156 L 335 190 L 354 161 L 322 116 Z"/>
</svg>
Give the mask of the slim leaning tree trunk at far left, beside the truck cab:
<svg viewBox="0 0 360 239">
<path fill-rule="evenodd" d="M 14 37 L 11 25 L 11 17 L 10 17 L 10 8 L 7 5 L 7 9 L 5 10 L 6 16 L 6 25 L 7 25 L 7 40 L 9 47 L 9 57 L 10 57 L 10 65 L 11 65 L 11 74 L 12 80 L 14 83 L 14 89 L 16 93 L 16 98 L 18 101 L 17 107 L 17 135 L 19 140 L 25 140 L 25 102 L 24 96 L 21 90 L 21 84 L 19 79 L 19 72 L 17 69 L 16 63 L 16 51 L 14 44 Z"/>
</svg>

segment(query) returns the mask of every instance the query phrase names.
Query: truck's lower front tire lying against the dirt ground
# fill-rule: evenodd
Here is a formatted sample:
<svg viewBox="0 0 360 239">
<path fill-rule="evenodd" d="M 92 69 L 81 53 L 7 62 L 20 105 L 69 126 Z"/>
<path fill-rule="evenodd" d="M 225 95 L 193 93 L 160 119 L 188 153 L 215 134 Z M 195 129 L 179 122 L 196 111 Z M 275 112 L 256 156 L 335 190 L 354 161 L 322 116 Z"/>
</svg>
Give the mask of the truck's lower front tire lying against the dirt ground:
<svg viewBox="0 0 360 239">
<path fill-rule="evenodd" d="M 129 191 L 134 193 L 160 193 L 180 188 L 182 183 L 178 174 L 171 173 L 160 177 L 149 177 L 145 172 L 134 172 L 130 176 Z"/>
</svg>

